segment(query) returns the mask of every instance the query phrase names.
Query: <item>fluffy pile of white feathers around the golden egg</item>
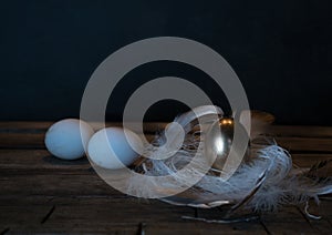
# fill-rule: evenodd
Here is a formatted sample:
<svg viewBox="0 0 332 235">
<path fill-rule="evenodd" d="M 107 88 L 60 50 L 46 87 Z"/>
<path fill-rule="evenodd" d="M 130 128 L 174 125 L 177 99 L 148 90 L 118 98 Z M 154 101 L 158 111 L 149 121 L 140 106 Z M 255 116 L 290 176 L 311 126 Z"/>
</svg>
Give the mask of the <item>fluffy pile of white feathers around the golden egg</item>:
<svg viewBox="0 0 332 235">
<path fill-rule="evenodd" d="M 207 110 L 205 110 L 205 113 Z M 186 116 L 185 116 L 186 117 Z M 292 166 L 290 154 L 278 146 L 273 141 L 259 141 L 260 144 L 252 144 L 250 147 L 250 161 L 243 162 L 236 173 L 224 181 L 216 174 L 215 171 L 209 171 L 203 174 L 200 168 L 207 166 L 207 161 L 204 155 L 203 136 L 197 135 L 199 129 L 188 122 L 191 119 L 180 116 L 179 120 L 186 123 L 186 139 L 175 155 L 167 160 L 148 159 L 136 167 L 136 170 L 152 176 L 170 175 L 170 180 L 160 181 L 156 177 L 149 177 L 149 182 L 137 182 L 137 178 L 132 178 L 128 184 L 128 193 L 135 192 L 136 195 L 148 195 L 147 192 L 162 192 L 166 195 L 175 192 L 177 188 L 187 188 L 190 185 L 190 180 L 194 176 L 200 176 L 201 180 L 175 196 L 164 197 L 162 200 L 176 205 L 189 205 L 196 207 L 215 207 L 225 204 L 234 205 L 231 210 L 238 207 L 247 207 L 253 211 L 273 211 L 283 204 L 299 204 L 309 198 L 318 198 L 319 195 L 332 193 L 331 178 L 326 177 L 323 181 L 317 175 L 318 165 L 309 172 L 297 171 Z M 205 115 L 205 121 L 214 121 L 216 116 Z M 253 119 L 251 141 L 261 139 L 260 134 L 267 127 L 267 122 L 259 119 Z M 195 130 L 195 131 L 193 131 Z M 176 137 L 176 136 L 175 136 Z M 163 134 L 156 137 L 155 145 L 162 145 L 165 140 Z M 203 141 L 200 149 L 198 143 Z M 158 154 L 157 149 L 146 150 L 151 157 Z M 193 163 L 193 157 L 198 154 L 198 157 L 188 167 L 188 163 Z M 187 167 L 186 174 L 177 176 L 175 173 Z M 149 185 L 149 187 L 142 187 Z"/>
</svg>

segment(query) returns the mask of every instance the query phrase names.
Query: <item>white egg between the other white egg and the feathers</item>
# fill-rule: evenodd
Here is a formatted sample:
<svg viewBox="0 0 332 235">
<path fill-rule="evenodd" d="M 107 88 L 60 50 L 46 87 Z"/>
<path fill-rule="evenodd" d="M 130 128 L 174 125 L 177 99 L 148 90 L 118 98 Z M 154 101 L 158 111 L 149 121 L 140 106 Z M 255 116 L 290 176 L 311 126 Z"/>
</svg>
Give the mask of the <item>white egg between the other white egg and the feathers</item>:
<svg viewBox="0 0 332 235">
<path fill-rule="evenodd" d="M 142 147 L 142 140 L 136 133 L 127 129 L 107 127 L 91 137 L 87 155 L 103 168 L 117 170 L 131 165 Z"/>
</svg>

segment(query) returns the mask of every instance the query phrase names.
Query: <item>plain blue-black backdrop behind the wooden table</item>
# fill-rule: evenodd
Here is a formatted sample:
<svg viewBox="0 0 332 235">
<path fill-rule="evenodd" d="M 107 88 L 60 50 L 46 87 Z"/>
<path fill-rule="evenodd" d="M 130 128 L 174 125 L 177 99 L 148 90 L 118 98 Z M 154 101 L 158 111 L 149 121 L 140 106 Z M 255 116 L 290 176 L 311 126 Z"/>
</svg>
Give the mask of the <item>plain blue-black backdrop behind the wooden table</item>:
<svg viewBox="0 0 332 235">
<path fill-rule="evenodd" d="M 200 3 L 198 3 L 200 2 Z M 282 124 L 331 125 L 332 8 L 329 1 L 2 1 L 0 120 L 79 116 L 96 67 L 117 49 L 151 37 L 197 40 L 220 53 L 240 78 L 251 109 Z M 151 79 L 196 82 L 227 106 L 210 79 L 189 65 L 154 62 L 129 72 L 111 96 L 121 119 L 129 93 Z M 146 120 L 185 111 L 155 104 Z"/>
</svg>

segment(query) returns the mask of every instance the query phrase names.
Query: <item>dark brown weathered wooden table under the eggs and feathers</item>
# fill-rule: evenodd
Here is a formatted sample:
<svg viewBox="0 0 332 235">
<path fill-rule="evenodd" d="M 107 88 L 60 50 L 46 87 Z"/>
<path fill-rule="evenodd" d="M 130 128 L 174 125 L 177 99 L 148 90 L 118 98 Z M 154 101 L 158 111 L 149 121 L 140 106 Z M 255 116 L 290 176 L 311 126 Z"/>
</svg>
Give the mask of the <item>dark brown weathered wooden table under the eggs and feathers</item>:
<svg viewBox="0 0 332 235">
<path fill-rule="evenodd" d="M 321 201 L 320 221 L 307 218 L 301 206 L 234 224 L 184 219 L 181 216 L 195 215 L 218 218 L 220 211 L 173 206 L 122 194 L 102 181 L 86 159 L 66 162 L 53 157 L 43 144 L 50 125 L 0 123 L 0 234 L 332 233 L 330 197 Z M 147 124 L 152 133 L 163 126 Z M 332 127 L 273 126 L 271 134 L 302 167 L 332 159 Z"/>
</svg>

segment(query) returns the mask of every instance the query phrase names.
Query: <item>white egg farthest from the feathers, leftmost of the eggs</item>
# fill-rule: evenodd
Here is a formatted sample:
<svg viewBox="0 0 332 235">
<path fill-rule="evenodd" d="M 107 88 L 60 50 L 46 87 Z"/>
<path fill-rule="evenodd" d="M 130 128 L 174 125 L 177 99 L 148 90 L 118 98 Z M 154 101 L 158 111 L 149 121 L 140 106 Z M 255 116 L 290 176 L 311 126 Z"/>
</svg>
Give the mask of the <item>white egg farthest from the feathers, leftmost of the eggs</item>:
<svg viewBox="0 0 332 235">
<path fill-rule="evenodd" d="M 84 155 L 93 129 L 83 121 L 65 119 L 54 123 L 46 132 L 45 145 L 59 159 L 75 160 Z"/>
</svg>

